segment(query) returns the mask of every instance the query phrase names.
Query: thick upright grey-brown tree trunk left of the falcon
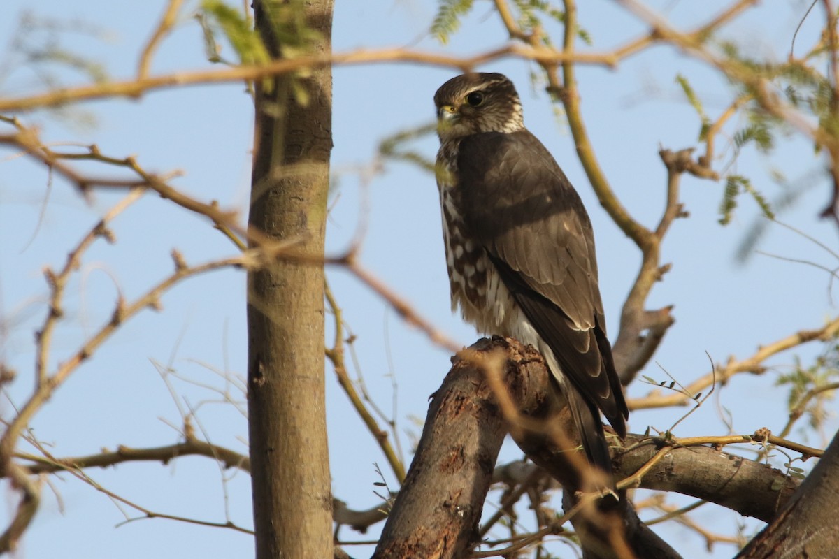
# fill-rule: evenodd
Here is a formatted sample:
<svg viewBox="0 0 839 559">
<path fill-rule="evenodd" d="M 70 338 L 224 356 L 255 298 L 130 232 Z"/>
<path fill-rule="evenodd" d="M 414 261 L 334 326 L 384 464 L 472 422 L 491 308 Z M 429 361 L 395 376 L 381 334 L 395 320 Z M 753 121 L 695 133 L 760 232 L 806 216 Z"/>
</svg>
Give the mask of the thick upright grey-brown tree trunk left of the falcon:
<svg viewBox="0 0 839 559">
<path fill-rule="evenodd" d="M 279 0 L 254 3 L 269 52 L 290 23 Z M 300 5 L 328 52 L 332 0 Z M 285 13 L 285 16 L 283 15 Z M 290 19 L 290 18 L 289 18 Z M 298 30 L 299 31 L 299 30 Z M 284 39 L 288 40 L 288 39 Z M 290 80 L 309 100 L 300 104 Z M 331 151 L 331 70 L 257 84 L 249 224 L 323 255 Z M 248 276 L 248 414 L 258 559 L 332 556 L 331 479 L 324 403 L 323 267 L 271 261 Z"/>
</svg>

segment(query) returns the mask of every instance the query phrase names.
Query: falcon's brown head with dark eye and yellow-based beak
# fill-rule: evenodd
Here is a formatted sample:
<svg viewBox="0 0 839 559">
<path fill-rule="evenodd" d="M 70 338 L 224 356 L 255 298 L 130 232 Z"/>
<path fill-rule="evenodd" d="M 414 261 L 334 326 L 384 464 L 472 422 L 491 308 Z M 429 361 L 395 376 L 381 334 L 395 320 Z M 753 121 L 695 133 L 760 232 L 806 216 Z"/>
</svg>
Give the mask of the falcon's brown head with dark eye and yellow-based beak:
<svg viewBox="0 0 839 559">
<path fill-rule="evenodd" d="M 440 85 L 434 104 L 441 142 L 481 132 L 524 129 L 519 94 L 502 74 L 458 75 Z"/>
</svg>

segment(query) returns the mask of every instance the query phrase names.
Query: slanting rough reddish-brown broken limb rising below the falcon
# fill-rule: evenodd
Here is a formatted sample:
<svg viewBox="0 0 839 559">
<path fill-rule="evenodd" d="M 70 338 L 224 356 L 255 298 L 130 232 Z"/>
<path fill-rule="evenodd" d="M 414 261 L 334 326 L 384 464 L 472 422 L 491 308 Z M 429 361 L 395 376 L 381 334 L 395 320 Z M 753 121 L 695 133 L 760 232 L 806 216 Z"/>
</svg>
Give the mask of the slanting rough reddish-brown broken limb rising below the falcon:
<svg viewBox="0 0 839 559">
<path fill-rule="evenodd" d="M 472 348 L 492 349 L 487 340 Z M 466 556 L 506 432 L 482 371 L 457 361 L 431 401 L 373 559 Z"/>
</svg>

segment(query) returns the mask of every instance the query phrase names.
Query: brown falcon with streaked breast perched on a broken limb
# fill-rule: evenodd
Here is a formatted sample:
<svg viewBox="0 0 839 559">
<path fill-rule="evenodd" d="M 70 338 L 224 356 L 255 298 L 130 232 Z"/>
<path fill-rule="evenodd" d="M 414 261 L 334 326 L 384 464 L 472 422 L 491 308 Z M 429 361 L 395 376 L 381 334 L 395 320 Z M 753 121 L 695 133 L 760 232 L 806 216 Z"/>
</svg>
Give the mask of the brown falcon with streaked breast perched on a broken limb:
<svg viewBox="0 0 839 559">
<path fill-rule="evenodd" d="M 545 356 L 590 463 L 611 473 L 599 411 L 626 435 L 606 338 L 591 221 L 501 74 L 448 80 L 437 107 L 436 175 L 452 310 L 484 334 Z"/>
</svg>

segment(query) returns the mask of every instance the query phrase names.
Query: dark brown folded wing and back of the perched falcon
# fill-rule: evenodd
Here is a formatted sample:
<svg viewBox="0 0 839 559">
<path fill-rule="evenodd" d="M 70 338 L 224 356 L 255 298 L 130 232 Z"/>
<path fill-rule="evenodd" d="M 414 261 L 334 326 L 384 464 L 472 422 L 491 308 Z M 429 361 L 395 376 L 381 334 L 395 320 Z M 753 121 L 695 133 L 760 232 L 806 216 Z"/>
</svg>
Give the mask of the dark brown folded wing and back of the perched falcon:
<svg viewBox="0 0 839 559">
<path fill-rule="evenodd" d="M 628 410 L 606 338 L 591 221 L 579 195 L 527 131 L 466 137 L 457 159 L 466 226 L 562 373 L 623 437 Z"/>
</svg>

